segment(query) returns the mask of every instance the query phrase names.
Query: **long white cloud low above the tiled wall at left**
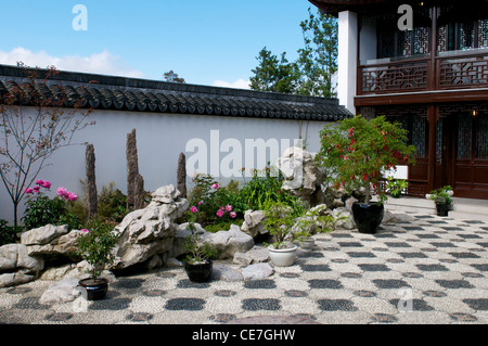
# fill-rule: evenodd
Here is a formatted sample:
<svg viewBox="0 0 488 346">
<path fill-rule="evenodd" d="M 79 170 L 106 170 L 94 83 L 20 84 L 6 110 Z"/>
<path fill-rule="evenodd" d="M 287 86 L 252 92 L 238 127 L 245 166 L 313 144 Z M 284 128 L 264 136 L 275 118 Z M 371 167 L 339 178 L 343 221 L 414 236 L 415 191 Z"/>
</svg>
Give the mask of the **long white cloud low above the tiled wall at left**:
<svg viewBox="0 0 488 346">
<path fill-rule="evenodd" d="M 120 56 L 108 51 L 93 53 L 90 56 L 53 56 L 44 51 L 33 52 L 23 47 L 14 48 L 10 52 L 0 50 L 0 64 L 16 65 L 23 62 L 27 66 L 47 67 L 54 65 L 61 71 L 73 71 L 113 76 L 142 78 L 144 74 L 132 69 Z"/>
</svg>

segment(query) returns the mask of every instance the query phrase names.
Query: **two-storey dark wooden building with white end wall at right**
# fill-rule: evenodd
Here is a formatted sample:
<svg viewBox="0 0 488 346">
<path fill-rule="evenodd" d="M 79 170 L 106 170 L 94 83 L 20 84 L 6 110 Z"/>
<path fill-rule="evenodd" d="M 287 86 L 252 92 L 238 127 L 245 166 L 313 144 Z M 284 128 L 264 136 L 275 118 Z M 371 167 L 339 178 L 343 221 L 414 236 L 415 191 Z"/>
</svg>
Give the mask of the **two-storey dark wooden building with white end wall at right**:
<svg viewBox="0 0 488 346">
<path fill-rule="evenodd" d="M 338 17 L 341 104 L 410 131 L 408 193 L 488 200 L 488 1 L 310 2 Z"/>
</svg>

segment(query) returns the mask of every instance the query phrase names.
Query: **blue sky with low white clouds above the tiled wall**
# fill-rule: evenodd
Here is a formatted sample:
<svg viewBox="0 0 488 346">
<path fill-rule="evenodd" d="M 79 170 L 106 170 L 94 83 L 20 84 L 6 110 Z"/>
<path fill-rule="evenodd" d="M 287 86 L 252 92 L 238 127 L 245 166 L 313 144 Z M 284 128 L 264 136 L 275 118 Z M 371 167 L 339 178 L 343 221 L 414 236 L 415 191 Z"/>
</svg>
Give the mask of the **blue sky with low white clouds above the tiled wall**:
<svg viewBox="0 0 488 346">
<path fill-rule="evenodd" d="M 75 30 L 76 4 L 88 29 Z M 0 0 L 0 64 L 243 87 L 258 52 L 296 59 L 307 0 Z"/>
</svg>

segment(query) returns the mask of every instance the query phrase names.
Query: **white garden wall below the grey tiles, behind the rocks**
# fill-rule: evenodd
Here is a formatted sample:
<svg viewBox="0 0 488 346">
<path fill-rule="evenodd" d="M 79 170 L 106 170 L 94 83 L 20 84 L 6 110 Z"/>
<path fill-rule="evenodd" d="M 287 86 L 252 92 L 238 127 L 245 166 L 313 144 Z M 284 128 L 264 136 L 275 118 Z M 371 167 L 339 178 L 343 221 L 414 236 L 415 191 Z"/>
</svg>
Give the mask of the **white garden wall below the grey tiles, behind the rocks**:
<svg viewBox="0 0 488 346">
<path fill-rule="evenodd" d="M 262 151 L 262 148 L 255 150 L 254 164 L 249 165 L 253 153 L 246 150 L 246 140 L 247 144 L 254 144 L 262 139 L 269 148 L 279 143 L 279 154 L 270 153 L 268 149 L 266 159 L 260 158 L 261 163 L 267 161 L 273 163 L 278 155 L 288 148 L 288 143 L 293 144 L 299 138 L 300 127 L 298 120 L 99 110 L 90 115 L 90 120 L 95 120 L 97 125 L 78 132 L 74 142 L 89 142 L 94 145 L 99 192 L 103 185 L 114 182 L 115 187 L 124 193 L 126 193 L 127 184 L 126 139 L 127 133 L 132 129 L 137 130 L 139 171 L 144 178 L 145 190 L 154 191 L 165 184 L 176 185 L 177 163 L 181 152 L 185 153 L 188 163 L 191 163 L 191 157 L 193 161 L 204 157 L 194 155 L 204 155 L 202 150 L 205 151 L 205 148 L 193 152 L 192 144 L 206 143 L 207 172 L 226 182 L 229 178 L 241 177 L 242 167 L 247 170 L 264 168 L 261 164 L 258 164 L 258 152 Z M 319 150 L 319 131 L 324 125 L 332 124 L 334 123 L 303 124 L 303 137 L 308 132 L 307 150 L 310 152 Z M 210 131 L 214 131 L 213 139 L 210 139 Z M 187 152 L 188 144 L 189 152 Z M 229 152 L 226 152 L 228 145 L 230 145 Z M 239 159 L 239 152 L 242 153 L 242 159 Z M 59 187 L 65 187 L 82 195 L 79 180 L 86 177 L 85 145 L 61 149 L 50 159 L 50 164 L 38 176 L 39 179 L 52 182 L 50 195 L 53 196 Z M 191 176 L 194 174 L 191 171 L 191 166 L 187 167 L 189 188 Z M 234 177 L 229 177 L 228 167 L 235 168 L 232 172 Z M 201 168 L 205 168 L 205 165 L 203 164 Z M 0 187 L 0 218 L 12 222 L 12 202 L 3 185 Z M 23 205 L 20 208 L 20 215 L 23 215 Z"/>
</svg>

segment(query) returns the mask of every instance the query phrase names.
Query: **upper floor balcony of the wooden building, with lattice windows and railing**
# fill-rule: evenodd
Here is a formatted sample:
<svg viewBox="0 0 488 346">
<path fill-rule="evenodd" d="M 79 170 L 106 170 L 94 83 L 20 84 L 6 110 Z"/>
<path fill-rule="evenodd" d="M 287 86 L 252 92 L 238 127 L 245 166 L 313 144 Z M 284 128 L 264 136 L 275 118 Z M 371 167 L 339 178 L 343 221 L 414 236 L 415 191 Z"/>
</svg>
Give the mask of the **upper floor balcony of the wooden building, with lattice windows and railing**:
<svg viewBox="0 0 488 346">
<path fill-rule="evenodd" d="M 412 30 L 398 14 L 359 14 L 357 95 L 488 88 L 488 12 L 416 7 Z"/>
</svg>

